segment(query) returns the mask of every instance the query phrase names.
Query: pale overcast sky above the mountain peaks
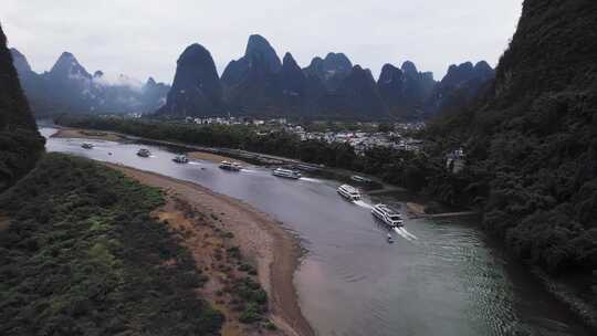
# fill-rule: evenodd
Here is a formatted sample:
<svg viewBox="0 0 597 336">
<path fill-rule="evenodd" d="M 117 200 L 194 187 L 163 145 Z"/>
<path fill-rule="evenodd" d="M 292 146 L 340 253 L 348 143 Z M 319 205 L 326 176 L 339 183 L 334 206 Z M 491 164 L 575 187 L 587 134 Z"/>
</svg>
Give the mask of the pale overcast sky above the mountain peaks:
<svg viewBox="0 0 597 336">
<path fill-rule="evenodd" d="M 70 51 L 90 72 L 171 82 L 176 60 L 203 44 L 221 73 L 252 33 L 302 66 L 344 52 L 375 74 L 413 61 L 443 76 L 452 63 L 494 65 L 516 28 L 522 0 L 2 0 L 9 44 L 34 71 Z"/>
</svg>

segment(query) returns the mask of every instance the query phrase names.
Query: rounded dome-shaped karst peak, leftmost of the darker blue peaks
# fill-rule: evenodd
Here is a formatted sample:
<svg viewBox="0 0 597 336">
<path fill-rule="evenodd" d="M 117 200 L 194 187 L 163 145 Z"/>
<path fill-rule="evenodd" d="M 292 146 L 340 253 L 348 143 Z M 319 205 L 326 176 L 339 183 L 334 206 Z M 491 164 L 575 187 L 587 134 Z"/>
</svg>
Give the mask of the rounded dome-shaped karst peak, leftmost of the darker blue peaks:
<svg viewBox="0 0 597 336">
<path fill-rule="evenodd" d="M 216 63 L 200 44 L 189 45 L 177 62 L 172 87 L 160 115 L 221 115 L 226 112 Z"/>
</svg>

